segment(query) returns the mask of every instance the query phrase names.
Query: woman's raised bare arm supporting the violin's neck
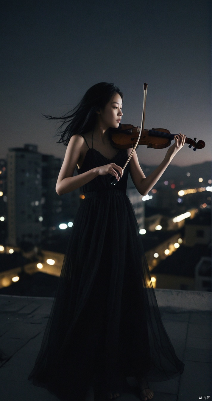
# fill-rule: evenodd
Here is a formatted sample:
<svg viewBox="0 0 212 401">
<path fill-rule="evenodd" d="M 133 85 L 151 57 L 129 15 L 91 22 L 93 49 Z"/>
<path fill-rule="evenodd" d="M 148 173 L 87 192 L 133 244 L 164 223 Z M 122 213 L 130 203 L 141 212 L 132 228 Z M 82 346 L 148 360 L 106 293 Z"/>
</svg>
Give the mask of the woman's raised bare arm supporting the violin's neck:
<svg viewBox="0 0 212 401">
<path fill-rule="evenodd" d="M 166 152 L 166 156 L 160 165 L 148 176 L 144 175 L 140 164 L 138 162 L 138 156 L 136 152 L 134 152 L 131 160 L 130 160 L 130 175 L 132 177 L 132 181 L 141 195 L 146 195 L 153 188 L 153 186 L 158 182 L 159 178 L 162 176 L 174 156 L 182 149 L 186 136 L 179 134 L 174 136 L 175 143 L 168 148 Z M 129 149 L 129 154 L 131 149 Z"/>
</svg>

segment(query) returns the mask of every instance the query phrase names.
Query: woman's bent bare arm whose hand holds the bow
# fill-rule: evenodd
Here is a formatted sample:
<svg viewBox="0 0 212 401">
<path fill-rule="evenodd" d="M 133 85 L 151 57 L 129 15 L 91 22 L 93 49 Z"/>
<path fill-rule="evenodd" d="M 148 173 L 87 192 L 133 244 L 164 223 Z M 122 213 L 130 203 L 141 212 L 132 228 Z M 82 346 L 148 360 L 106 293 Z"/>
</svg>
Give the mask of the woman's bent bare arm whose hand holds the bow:
<svg viewBox="0 0 212 401">
<path fill-rule="evenodd" d="M 60 169 L 58 180 L 56 183 L 56 192 L 58 195 L 63 195 L 71 192 L 84 184 L 87 184 L 98 175 L 112 174 L 119 180 L 117 171 L 120 176 L 123 174 L 123 170 L 120 166 L 114 163 L 106 164 L 105 166 L 95 167 L 77 176 L 73 176 L 74 169 L 80 158 L 82 147 L 84 145 L 84 139 L 79 135 L 74 135 L 70 138 L 68 143 L 65 158 Z"/>
</svg>

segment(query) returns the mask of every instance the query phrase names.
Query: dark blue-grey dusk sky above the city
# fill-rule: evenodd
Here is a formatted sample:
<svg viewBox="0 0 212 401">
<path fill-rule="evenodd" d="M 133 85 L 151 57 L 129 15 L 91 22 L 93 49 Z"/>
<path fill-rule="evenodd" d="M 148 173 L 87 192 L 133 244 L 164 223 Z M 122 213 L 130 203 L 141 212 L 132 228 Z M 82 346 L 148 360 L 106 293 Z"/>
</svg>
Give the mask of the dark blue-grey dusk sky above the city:
<svg viewBox="0 0 212 401">
<path fill-rule="evenodd" d="M 123 124 L 166 128 L 206 142 L 184 146 L 172 164 L 211 160 L 211 1 L 10 1 L 1 12 L 1 149 L 38 144 L 64 157 L 55 123 L 95 83 L 124 93 Z M 172 142 L 173 143 L 173 142 Z M 140 146 L 144 164 L 166 150 Z"/>
</svg>

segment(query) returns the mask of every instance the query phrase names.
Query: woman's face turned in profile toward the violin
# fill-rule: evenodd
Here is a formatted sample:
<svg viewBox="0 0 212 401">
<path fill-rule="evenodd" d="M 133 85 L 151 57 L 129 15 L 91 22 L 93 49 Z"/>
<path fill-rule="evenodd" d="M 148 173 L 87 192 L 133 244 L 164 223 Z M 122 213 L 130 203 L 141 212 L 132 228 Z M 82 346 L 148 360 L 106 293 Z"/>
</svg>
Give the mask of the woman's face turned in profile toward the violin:
<svg viewBox="0 0 212 401">
<path fill-rule="evenodd" d="M 100 124 L 104 128 L 118 128 L 122 119 L 122 98 L 118 93 L 115 93 L 104 109 L 97 111 L 99 114 Z"/>
</svg>

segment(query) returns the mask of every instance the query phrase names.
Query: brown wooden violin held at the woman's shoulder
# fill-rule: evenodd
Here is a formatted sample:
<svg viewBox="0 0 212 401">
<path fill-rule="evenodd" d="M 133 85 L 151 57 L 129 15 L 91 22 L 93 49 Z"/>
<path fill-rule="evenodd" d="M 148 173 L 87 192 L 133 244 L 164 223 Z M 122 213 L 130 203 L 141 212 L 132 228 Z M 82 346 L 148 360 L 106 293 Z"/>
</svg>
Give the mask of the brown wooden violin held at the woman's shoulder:
<svg viewBox="0 0 212 401">
<path fill-rule="evenodd" d="M 134 127 L 131 124 L 120 124 L 118 128 L 112 130 L 114 146 L 120 149 L 134 148 L 140 130 L 140 127 Z M 148 148 L 163 149 L 170 146 L 173 139 L 174 134 L 171 134 L 170 131 L 165 128 L 152 128 L 152 130 L 143 129 L 138 145 L 147 145 Z M 202 149 L 205 146 L 204 141 L 199 140 L 196 142 L 196 138 L 192 140 L 186 137 L 185 143 L 189 144 L 189 148 L 193 146 L 193 150 Z"/>
</svg>

